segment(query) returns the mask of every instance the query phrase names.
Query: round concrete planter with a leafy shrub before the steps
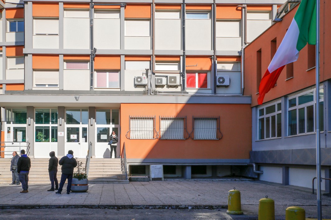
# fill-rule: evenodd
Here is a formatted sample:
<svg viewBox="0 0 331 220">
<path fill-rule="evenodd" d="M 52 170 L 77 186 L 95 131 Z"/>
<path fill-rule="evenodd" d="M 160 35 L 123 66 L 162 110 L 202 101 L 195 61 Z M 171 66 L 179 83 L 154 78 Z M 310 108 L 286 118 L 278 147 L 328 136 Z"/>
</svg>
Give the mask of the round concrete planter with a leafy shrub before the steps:
<svg viewBox="0 0 331 220">
<path fill-rule="evenodd" d="M 72 175 L 71 191 L 86 192 L 88 190 L 88 179 L 85 173 L 85 168 L 82 167 L 83 162 L 77 160 L 77 171 Z"/>
</svg>

